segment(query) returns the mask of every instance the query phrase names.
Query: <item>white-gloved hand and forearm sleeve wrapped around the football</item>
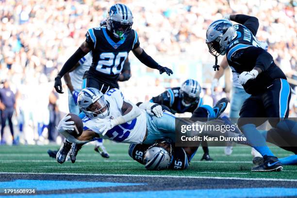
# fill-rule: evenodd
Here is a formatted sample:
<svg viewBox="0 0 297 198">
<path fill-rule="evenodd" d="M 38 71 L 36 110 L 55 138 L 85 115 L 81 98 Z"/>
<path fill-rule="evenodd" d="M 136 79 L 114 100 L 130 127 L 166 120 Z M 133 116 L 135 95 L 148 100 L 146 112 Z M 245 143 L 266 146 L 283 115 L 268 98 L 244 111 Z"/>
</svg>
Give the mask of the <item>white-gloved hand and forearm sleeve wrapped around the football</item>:
<svg viewBox="0 0 297 198">
<path fill-rule="evenodd" d="M 89 142 L 89 141 L 80 141 L 80 140 L 77 140 L 73 135 L 69 134 L 69 132 L 67 131 L 73 131 L 74 130 L 74 122 L 73 121 L 66 121 L 68 119 L 70 119 L 71 116 L 70 115 L 65 115 L 61 121 L 59 122 L 58 126 L 57 126 L 57 131 L 59 133 L 61 133 L 65 138 L 66 140 L 68 140 L 69 142 L 72 142 L 72 143 L 76 143 L 76 144 L 82 144 L 82 143 L 86 143 L 86 142 Z"/>
</svg>

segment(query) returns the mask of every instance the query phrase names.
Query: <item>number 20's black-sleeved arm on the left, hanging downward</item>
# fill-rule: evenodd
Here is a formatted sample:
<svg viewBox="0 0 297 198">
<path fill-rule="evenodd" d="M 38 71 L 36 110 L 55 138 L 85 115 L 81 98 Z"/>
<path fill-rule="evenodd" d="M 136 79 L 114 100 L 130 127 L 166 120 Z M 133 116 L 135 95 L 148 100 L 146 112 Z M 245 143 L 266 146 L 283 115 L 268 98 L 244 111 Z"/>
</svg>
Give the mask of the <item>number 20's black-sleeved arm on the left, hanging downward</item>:
<svg viewBox="0 0 297 198">
<path fill-rule="evenodd" d="M 61 78 L 69 72 L 78 62 L 79 60 L 85 56 L 90 51 L 89 44 L 87 42 L 83 42 L 82 45 L 77 49 L 72 56 L 66 61 L 64 66 L 62 67 L 61 71 L 58 73 L 57 77 L 55 78 L 54 87 L 56 91 L 60 94 L 63 94 L 62 91 L 62 81 Z"/>
</svg>

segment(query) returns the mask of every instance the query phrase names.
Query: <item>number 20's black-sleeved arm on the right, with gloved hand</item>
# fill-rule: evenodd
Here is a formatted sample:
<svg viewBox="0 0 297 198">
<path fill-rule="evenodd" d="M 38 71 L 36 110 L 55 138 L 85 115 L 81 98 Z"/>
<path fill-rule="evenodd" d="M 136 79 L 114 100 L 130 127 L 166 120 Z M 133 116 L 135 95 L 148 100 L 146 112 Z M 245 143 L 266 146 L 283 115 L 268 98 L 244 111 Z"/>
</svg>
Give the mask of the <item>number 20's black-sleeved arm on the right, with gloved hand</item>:
<svg viewBox="0 0 297 198">
<path fill-rule="evenodd" d="M 160 66 L 152 57 L 150 57 L 144 49 L 142 49 L 140 46 L 138 46 L 135 49 L 132 49 L 133 54 L 140 60 L 141 63 L 145 64 L 146 66 L 158 69 L 160 71 L 160 74 L 163 74 L 166 72 L 168 76 L 173 74 L 173 71 L 165 66 Z"/>
</svg>

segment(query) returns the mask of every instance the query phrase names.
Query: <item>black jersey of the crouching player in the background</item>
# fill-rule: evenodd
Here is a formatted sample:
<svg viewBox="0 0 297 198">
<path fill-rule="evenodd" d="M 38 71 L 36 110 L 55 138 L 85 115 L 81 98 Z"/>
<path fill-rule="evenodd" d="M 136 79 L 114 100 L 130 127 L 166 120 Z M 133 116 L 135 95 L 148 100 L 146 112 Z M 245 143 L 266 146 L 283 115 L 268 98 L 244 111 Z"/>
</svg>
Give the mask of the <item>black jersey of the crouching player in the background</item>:
<svg viewBox="0 0 297 198">
<path fill-rule="evenodd" d="M 202 98 L 199 98 L 197 102 L 186 107 L 181 103 L 182 98 L 180 94 L 180 88 L 181 87 L 173 87 L 173 88 L 167 89 L 159 96 L 153 97 L 150 101 L 157 104 L 165 105 L 170 109 L 172 114 L 175 114 L 175 113 L 181 114 L 184 112 L 193 113 L 196 108 L 202 105 L 203 103 Z"/>
</svg>

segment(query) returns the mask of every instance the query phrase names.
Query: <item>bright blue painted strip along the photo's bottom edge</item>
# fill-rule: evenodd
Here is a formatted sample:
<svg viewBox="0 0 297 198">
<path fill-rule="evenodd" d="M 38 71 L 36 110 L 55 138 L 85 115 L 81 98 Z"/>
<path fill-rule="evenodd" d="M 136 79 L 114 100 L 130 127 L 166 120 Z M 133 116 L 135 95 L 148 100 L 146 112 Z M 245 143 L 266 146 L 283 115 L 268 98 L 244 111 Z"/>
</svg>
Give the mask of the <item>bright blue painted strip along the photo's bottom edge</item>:
<svg viewBox="0 0 297 198">
<path fill-rule="evenodd" d="M 297 196 L 297 188 L 231 188 L 231 189 L 195 189 L 195 190 L 164 190 L 164 191 L 140 191 L 140 192 L 110 192 L 110 193 L 74 193 L 35 195 L 36 198 L 263 198 L 263 197 L 291 197 Z M 0 196 L 0 198 L 32 198 L 32 195 L 24 196 Z"/>
</svg>

